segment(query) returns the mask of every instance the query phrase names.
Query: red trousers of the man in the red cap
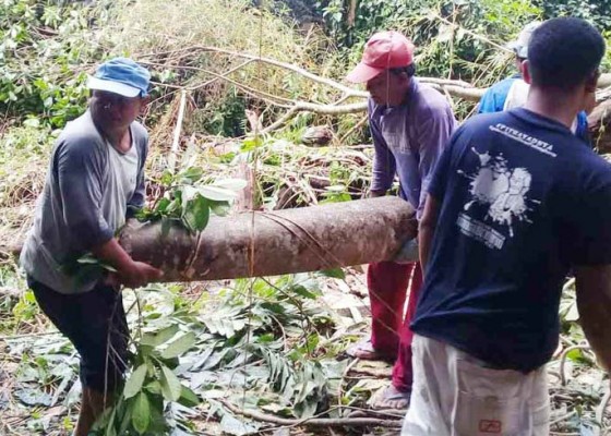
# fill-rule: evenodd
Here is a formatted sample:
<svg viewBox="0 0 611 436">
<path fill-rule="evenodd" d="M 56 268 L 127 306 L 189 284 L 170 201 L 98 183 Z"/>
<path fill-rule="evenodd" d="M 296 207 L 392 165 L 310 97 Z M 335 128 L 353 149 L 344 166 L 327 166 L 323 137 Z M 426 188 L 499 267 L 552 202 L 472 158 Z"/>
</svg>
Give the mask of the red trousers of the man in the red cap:
<svg viewBox="0 0 611 436">
<path fill-rule="evenodd" d="M 414 332 L 409 329 L 409 323 L 416 313 L 418 295 L 422 288 L 420 264 L 370 264 L 367 270 L 367 286 L 371 301 L 371 343 L 381 353 L 397 355 L 393 367 L 393 385 L 403 391 L 411 390 Z M 409 300 L 404 319 L 408 287 Z"/>
</svg>

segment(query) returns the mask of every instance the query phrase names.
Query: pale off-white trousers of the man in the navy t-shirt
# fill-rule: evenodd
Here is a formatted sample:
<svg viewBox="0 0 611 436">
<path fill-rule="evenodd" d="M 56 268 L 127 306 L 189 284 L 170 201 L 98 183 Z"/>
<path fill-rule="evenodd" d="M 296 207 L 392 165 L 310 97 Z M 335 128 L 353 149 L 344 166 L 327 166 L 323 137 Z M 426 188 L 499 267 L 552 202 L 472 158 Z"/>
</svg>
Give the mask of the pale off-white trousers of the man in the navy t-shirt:
<svg viewBox="0 0 611 436">
<path fill-rule="evenodd" d="M 414 387 L 402 436 L 548 436 L 546 368 L 491 370 L 416 335 Z"/>
</svg>

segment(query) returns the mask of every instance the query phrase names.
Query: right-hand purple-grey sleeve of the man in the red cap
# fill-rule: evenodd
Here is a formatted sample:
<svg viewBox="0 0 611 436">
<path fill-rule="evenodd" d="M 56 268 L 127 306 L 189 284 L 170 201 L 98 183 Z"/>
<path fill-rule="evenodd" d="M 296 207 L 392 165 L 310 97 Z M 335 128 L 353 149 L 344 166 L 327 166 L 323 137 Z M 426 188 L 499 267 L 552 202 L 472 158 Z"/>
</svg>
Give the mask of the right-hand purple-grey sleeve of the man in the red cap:
<svg viewBox="0 0 611 436">
<path fill-rule="evenodd" d="M 420 217 L 424 210 L 429 185 L 433 178 L 435 166 L 443 154 L 454 132 L 456 121 L 452 110 L 447 108 L 443 114 L 434 114 L 429 118 L 418 131 L 418 144 L 420 160 L 418 172 L 420 174 L 420 198 L 417 216 Z"/>
</svg>

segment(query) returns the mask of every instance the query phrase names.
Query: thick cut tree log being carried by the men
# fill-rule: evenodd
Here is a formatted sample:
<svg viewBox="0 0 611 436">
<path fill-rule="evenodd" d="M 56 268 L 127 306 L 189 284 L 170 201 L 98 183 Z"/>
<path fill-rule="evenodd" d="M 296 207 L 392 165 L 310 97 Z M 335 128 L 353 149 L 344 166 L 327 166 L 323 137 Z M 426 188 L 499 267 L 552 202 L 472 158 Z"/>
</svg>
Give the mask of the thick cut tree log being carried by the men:
<svg viewBox="0 0 611 436">
<path fill-rule="evenodd" d="M 120 243 L 164 270 L 163 281 L 261 277 L 387 261 L 415 237 L 412 219 L 407 202 L 382 197 L 213 218 L 199 238 L 131 223 Z"/>
</svg>

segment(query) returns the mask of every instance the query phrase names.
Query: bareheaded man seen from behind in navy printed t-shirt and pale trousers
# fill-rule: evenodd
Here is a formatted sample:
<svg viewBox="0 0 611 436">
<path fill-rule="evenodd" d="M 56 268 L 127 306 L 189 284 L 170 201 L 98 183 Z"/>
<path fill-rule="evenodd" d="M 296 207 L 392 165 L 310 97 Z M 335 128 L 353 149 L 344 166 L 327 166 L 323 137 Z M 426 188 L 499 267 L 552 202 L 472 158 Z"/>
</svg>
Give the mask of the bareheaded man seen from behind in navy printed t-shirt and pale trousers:
<svg viewBox="0 0 611 436">
<path fill-rule="evenodd" d="M 586 336 L 611 368 L 611 166 L 570 130 L 603 53 L 585 21 L 543 23 L 525 107 L 467 121 L 441 157 L 420 223 L 403 435 L 547 436 L 544 364 L 570 269 Z"/>
</svg>

